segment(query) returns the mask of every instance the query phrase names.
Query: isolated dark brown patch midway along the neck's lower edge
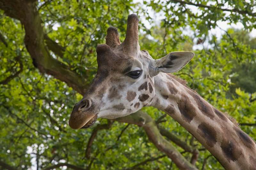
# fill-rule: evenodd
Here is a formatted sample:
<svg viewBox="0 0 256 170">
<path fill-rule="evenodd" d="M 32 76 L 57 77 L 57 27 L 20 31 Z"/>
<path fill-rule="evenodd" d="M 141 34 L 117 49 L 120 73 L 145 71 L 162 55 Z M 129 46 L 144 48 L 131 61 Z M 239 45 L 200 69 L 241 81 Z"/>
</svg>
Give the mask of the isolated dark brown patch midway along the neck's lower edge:
<svg viewBox="0 0 256 170">
<path fill-rule="evenodd" d="M 206 144 L 213 147 L 217 142 L 217 132 L 214 127 L 203 122 L 197 128 L 197 133 L 206 140 Z"/>
</svg>

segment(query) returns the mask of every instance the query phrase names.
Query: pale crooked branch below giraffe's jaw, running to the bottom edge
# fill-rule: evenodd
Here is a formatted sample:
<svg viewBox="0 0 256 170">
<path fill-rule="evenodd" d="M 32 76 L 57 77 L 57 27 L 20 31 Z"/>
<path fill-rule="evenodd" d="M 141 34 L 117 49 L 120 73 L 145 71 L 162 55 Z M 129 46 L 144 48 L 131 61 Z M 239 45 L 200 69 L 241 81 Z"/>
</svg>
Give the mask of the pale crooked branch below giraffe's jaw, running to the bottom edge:
<svg viewBox="0 0 256 170">
<path fill-rule="evenodd" d="M 156 148 L 164 152 L 180 169 L 197 169 L 180 152 L 160 134 L 155 121 L 146 113 L 138 111 L 132 115 L 115 119 L 118 122 L 136 124 L 142 127 L 148 135 L 149 140 Z"/>
</svg>

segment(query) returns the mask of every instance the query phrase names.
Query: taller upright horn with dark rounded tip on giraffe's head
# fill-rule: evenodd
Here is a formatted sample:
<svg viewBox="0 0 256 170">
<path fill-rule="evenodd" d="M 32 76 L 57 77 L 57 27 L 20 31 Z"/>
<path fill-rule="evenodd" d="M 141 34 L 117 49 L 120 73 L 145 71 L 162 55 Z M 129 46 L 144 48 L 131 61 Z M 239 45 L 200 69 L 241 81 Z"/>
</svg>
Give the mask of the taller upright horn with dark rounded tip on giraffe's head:
<svg viewBox="0 0 256 170">
<path fill-rule="evenodd" d="M 127 55 L 137 56 L 139 50 L 139 36 L 138 36 L 139 18 L 136 14 L 131 14 L 127 19 L 127 29 L 124 39 L 124 49 Z"/>
</svg>

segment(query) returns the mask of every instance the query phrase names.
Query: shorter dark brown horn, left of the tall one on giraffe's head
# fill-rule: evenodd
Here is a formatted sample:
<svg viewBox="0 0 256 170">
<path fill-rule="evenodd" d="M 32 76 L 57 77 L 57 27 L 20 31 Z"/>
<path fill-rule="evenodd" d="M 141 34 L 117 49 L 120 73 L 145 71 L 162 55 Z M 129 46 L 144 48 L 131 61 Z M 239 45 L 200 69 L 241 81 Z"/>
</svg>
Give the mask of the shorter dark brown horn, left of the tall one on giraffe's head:
<svg viewBox="0 0 256 170">
<path fill-rule="evenodd" d="M 118 45 L 120 45 L 120 40 L 119 40 L 119 34 L 117 31 L 117 28 L 115 27 L 109 27 L 107 30 L 107 36 L 106 36 L 106 44 L 110 48 L 114 48 Z"/>
</svg>

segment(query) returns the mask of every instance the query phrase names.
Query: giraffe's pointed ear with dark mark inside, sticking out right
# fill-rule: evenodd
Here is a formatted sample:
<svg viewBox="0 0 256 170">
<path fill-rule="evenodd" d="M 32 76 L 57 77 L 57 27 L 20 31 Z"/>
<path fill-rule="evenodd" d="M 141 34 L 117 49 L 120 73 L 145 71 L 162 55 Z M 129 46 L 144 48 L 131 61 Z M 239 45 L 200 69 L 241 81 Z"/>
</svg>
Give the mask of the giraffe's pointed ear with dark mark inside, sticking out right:
<svg viewBox="0 0 256 170">
<path fill-rule="evenodd" d="M 149 68 L 150 76 L 154 77 L 159 72 L 174 73 L 182 69 L 193 57 L 192 52 L 171 52 L 168 55 L 155 60 L 153 67 Z"/>
</svg>

